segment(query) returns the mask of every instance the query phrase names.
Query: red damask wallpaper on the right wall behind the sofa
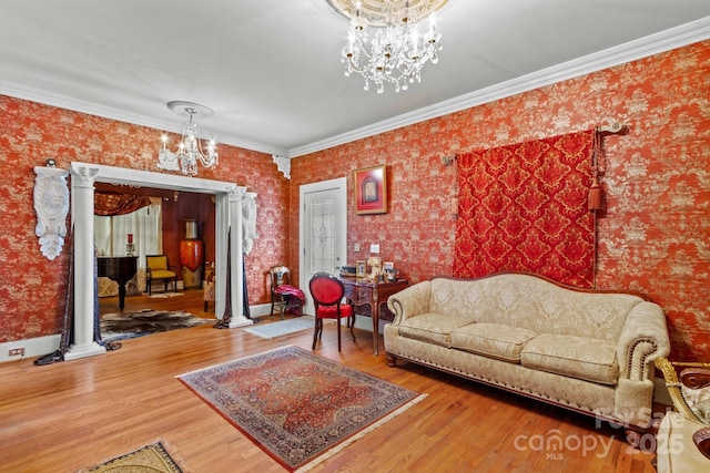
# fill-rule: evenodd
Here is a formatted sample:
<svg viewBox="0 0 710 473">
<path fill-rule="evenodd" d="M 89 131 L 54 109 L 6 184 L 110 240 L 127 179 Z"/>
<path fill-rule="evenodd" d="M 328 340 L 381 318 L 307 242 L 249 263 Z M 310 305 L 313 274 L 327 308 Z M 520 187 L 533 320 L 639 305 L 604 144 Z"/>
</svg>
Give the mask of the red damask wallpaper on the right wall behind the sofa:
<svg viewBox="0 0 710 473">
<path fill-rule="evenodd" d="M 344 175 L 352 195 L 353 171 L 386 164 L 389 212 L 348 203 L 348 260 L 367 256 L 355 243 L 378 243 L 416 282 L 452 273 L 456 176 L 444 156 L 615 121 L 628 133 L 605 140 L 597 287 L 641 291 L 668 315 L 671 357 L 710 360 L 710 41 L 298 157 L 291 202 L 298 185 Z M 297 248 L 294 237 L 295 267 Z"/>
</svg>

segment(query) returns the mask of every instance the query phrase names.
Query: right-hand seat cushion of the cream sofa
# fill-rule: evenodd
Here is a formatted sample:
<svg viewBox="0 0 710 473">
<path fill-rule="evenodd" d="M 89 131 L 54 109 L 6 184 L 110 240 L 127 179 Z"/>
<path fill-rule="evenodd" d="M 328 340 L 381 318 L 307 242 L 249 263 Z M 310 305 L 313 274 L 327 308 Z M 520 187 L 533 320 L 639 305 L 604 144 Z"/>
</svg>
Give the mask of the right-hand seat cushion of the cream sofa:
<svg viewBox="0 0 710 473">
<path fill-rule="evenodd" d="M 595 338 L 541 333 L 520 351 L 520 364 L 587 381 L 616 384 L 616 345 Z"/>
</svg>

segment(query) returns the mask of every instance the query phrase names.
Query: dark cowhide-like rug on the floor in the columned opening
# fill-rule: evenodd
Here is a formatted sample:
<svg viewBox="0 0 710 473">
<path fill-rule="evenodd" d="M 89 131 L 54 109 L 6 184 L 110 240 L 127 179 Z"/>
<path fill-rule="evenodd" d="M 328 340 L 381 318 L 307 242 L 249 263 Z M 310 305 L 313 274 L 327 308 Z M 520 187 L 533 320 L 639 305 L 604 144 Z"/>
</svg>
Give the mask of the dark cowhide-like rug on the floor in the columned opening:
<svg viewBox="0 0 710 473">
<path fill-rule="evenodd" d="M 201 319 L 184 311 L 144 309 L 139 312 L 101 316 L 101 340 L 112 342 L 169 330 L 184 329 L 213 320 Z"/>
</svg>

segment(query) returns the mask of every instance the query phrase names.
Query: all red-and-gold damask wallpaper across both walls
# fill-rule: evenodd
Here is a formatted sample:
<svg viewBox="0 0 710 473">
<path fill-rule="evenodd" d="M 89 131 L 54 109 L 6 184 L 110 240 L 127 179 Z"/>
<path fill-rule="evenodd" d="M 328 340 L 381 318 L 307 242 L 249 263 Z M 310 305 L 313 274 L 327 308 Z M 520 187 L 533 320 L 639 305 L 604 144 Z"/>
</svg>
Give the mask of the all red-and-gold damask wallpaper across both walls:
<svg viewBox="0 0 710 473">
<path fill-rule="evenodd" d="M 416 91 L 410 91 L 415 93 Z M 710 359 L 710 41 L 359 140 L 292 162 L 220 145 L 201 177 L 258 194 L 260 238 L 246 258 L 250 301 L 267 301 L 265 271 L 298 260 L 298 186 L 387 165 L 388 213 L 355 215 L 355 243 L 381 245 L 412 282 L 453 267 L 456 169 L 442 158 L 620 121 L 606 140 L 597 287 L 633 289 L 668 315 L 674 359 Z M 68 254 L 43 258 L 34 236 L 33 166 L 49 157 L 158 171 L 160 131 L 0 95 L 0 342 L 59 332 Z"/>
</svg>

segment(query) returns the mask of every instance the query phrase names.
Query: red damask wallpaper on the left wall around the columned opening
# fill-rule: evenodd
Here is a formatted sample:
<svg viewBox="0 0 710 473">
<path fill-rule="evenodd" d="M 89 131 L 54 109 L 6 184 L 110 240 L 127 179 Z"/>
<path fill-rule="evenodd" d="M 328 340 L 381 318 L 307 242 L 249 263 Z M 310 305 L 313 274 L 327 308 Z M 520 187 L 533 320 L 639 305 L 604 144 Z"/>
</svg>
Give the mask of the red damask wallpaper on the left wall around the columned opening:
<svg viewBox="0 0 710 473">
<path fill-rule="evenodd" d="M 64 310 L 69 253 L 40 253 L 32 204 L 34 166 L 52 157 L 160 172 L 162 132 L 0 95 L 0 342 L 58 333 Z M 261 238 L 245 258 L 251 304 L 270 300 L 268 267 L 287 260 L 288 181 L 271 155 L 220 145 L 220 166 L 199 177 L 233 182 L 257 193 Z M 71 178 L 68 178 L 70 182 Z M 69 243 L 64 249 L 69 248 Z"/>
</svg>

